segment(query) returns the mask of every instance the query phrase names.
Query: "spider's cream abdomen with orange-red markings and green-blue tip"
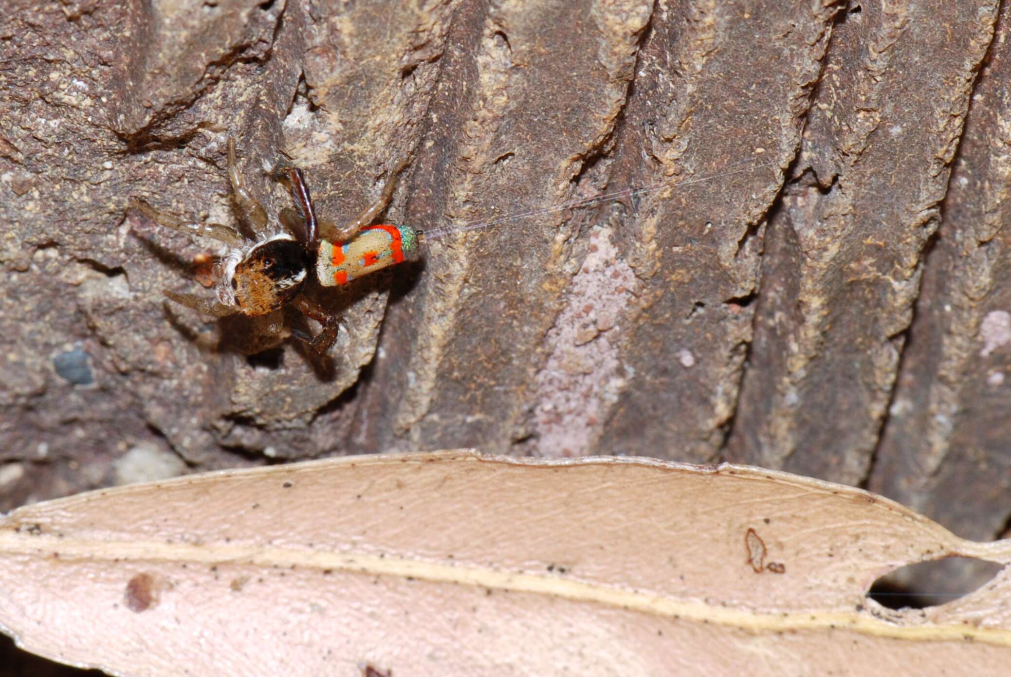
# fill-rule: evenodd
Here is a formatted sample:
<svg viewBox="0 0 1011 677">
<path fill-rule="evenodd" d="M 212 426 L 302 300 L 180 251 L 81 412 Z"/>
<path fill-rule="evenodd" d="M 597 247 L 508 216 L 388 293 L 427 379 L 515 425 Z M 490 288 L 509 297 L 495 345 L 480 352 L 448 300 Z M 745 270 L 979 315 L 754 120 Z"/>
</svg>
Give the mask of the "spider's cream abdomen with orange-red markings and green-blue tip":
<svg viewBox="0 0 1011 677">
<path fill-rule="evenodd" d="M 316 279 L 336 287 L 381 268 L 409 261 L 418 253 L 418 231 L 408 225 L 369 225 L 344 243 L 321 240 Z"/>
</svg>

